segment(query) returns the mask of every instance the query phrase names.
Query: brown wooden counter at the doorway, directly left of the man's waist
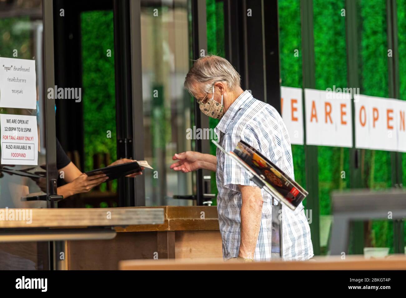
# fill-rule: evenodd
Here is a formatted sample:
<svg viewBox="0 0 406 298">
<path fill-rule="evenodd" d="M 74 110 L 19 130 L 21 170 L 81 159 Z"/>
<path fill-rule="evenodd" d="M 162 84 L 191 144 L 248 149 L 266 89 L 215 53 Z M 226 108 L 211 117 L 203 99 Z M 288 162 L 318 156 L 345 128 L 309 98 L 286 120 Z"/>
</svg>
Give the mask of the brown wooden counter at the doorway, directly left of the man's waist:
<svg viewBox="0 0 406 298">
<path fill-rule="evenodd" d="M 112 240 L 67 241 L 67 268 L 117 270 L 125 259 L 221 258 L 216 206 L 133 207 L 164 209 L 160 225 L 116 227 Z"/>
</svg>

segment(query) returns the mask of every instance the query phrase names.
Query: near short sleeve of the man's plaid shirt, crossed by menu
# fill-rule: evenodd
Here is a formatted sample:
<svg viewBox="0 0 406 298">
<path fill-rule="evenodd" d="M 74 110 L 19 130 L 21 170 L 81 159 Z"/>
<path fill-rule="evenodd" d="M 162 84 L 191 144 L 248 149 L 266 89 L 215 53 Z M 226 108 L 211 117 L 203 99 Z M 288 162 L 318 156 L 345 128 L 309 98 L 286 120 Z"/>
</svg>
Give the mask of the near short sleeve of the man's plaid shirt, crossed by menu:
<svg viewBox="0 0 406 298">
<path fill-rule="evenodd" d="M 241 134 L 226 133 L 224 135 L 224 146 L 226 151 L 233 151 L 240 140 L 243 140 L 253 148 L 259 150 L 255 134 L 249 130 Z M 240 191 L 238 185 L 258 186 L 250 179 L 250 175 L 234 159 L 225 154 L 223 166 L 224 187 L 232 191 Z"/>
</svg>

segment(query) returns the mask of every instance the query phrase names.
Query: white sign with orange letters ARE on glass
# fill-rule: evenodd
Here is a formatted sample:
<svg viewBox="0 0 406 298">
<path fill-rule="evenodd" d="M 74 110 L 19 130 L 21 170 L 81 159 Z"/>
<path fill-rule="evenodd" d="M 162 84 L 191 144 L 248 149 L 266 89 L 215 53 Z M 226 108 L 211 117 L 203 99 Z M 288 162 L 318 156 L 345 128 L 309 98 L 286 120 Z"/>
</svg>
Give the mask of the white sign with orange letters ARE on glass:
<svg viewBox="0 0 406 298">
<path fill-rule="evenodd" d="M 304 89 L 306 144 L 352 147 L 351 95 Z"/>
</svg>

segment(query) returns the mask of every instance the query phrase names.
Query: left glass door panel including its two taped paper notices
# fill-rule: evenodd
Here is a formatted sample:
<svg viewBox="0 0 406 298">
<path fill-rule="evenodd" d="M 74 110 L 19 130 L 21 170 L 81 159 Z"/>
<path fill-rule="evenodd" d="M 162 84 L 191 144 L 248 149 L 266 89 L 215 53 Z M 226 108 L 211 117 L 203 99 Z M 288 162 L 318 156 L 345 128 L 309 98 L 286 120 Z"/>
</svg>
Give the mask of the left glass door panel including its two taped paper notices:
<svg viewBox="0 0 406 298">
<path fill-rule="evenodd" d="M 42 1 L 1 1 L 0 66 L 6 75 L 0 86 L 0 208 L 3 220 L 26 216 L 27 227 L 32 208 L 48 207 L 43 44 Z M 12 97 L 16 92 L 20 97 Z M 0 242 L 0 270 L 49 269 L 48 247 Z"/>
</svg>

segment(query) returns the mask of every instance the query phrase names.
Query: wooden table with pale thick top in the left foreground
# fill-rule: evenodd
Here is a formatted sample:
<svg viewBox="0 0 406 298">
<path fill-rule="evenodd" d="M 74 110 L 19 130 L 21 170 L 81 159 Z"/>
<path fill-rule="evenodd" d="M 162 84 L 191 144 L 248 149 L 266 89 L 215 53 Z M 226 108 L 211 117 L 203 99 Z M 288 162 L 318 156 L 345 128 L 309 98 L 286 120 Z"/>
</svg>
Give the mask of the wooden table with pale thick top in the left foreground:
<svg viewBox="0 0 406 298">
<path fill-rule="evenodd" d="M 112 241 L 117 235 L 114 227 L 163 223 L 163 208 L 0 209 L 0 264 L 17 268 L 13 258 L 18 258 L 33 268 L 48 259 L 48 241 L 55 241 L 54 264 L 56 268 L 67 268 L 67 258 L 60 258 L 60 254 L 67 253 L 66 240 L 83 240 L 93 248 L 92 241 Z M 5 259 L 9 262 L 4 263 Z"/>
</svg>

